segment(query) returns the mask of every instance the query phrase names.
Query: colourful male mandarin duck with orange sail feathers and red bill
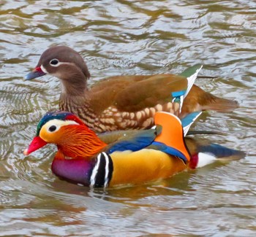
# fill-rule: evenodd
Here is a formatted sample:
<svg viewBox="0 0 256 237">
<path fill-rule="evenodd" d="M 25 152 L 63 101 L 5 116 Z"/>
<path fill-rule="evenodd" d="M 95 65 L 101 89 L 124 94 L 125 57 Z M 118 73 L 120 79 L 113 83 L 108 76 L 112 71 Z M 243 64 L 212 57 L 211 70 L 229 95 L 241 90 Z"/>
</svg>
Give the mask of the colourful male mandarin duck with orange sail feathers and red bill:
<svg viewBox="0 0 256 237">
<path fill-rule="evenodd" d="M 197 116 L 197 114 L 195 114 Z M 157 112 L 156 126 L 129 131 L 110 143 L 103 141 L 70 112 L 48 112 L 37 125 L 37 136 L 24 155 L 53 143 L 58 152 L 52 171 L 62 179 L 90 187 L 113 187 L 165 179 L 187 168 L 212 163 L 217 158 L 242 158 L 244 152 L 217 144 L 184 139 L 181 121 Z"/>
</svg>

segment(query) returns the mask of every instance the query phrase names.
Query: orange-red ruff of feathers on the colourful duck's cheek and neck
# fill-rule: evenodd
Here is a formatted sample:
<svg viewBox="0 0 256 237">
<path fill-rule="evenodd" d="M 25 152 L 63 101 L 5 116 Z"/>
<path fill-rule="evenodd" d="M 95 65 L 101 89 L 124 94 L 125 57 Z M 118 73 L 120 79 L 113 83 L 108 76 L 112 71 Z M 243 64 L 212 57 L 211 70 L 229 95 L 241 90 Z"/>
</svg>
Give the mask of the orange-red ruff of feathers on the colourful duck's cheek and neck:
<svg viewBox="0 0 256 237">
<path fill-rule="evenodd" d="M 60 154 L 64 156 L 57 153 L 56 159 L 81 158 L 90 160 L 107 146 L 94 131 L 85 129 L 85 126 L 76 126 L 65 133 L 67 134 L 63 134 L 57 145 Z"/>
</svg>

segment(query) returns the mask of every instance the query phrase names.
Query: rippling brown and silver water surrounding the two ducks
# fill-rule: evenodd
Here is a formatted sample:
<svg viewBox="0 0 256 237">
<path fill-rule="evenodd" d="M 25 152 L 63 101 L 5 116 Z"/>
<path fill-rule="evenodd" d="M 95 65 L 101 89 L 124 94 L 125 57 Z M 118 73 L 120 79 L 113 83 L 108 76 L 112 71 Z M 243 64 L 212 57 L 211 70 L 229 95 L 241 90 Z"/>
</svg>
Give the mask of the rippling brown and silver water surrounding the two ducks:
<svg viewBox="0 0 256 237">
<path fill-rule="evenodd" d="M 1 236 L 255 236 L 254 1 L 1 0 L 0 11 Z M 90 83 L 203 63 L 201 74 L 218 78 L 196 84 L 241 107 L 205 113 L 195 128 L 222 131 L 203 138 L 246 158 L 106 191 L 59 180 L 55 147 L 22 154 L 59 98 L 58 79 L 23 76 L 56 44 L 86 58 Z"/>
</svg>

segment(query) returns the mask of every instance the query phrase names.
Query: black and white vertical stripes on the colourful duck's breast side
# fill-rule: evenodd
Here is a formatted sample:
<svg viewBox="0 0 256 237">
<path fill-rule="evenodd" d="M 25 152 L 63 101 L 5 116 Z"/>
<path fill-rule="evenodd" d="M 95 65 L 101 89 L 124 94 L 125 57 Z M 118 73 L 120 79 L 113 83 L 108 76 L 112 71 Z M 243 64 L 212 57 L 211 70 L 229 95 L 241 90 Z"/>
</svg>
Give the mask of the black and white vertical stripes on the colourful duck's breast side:
<svg viewBox="0 0 256 237">
<path fill-rule="evenodd" d="M 108 187 L 113 174 L 113 161 L 105 152 L 99 153 L 91 172 L 90 187 Z"/>
</svg>

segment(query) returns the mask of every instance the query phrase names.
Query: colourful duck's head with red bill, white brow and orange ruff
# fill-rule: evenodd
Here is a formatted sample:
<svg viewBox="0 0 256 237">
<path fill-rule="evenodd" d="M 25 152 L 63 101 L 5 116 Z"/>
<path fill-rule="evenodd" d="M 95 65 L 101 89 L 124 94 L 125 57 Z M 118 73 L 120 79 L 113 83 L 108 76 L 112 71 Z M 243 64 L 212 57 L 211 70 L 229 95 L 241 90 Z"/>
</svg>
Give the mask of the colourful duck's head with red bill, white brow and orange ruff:
<svg viewBox="0 0 256 237">
<path fill-rule="evenodd" d="M 70 112 L 46 113 L 37 125 L 36 136 L 23 153 L 29 155 L 50 143 L 56 144 L 64 155 L 72 158 L 89 158 L 94 154 L 94 148 L 97 150 L 104 145 L 83 121 Z M 83 152 L 79 146 L 88 147 L 88 150 Z"/>
</svg>

